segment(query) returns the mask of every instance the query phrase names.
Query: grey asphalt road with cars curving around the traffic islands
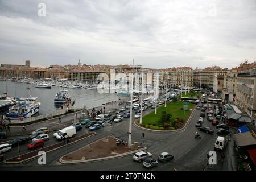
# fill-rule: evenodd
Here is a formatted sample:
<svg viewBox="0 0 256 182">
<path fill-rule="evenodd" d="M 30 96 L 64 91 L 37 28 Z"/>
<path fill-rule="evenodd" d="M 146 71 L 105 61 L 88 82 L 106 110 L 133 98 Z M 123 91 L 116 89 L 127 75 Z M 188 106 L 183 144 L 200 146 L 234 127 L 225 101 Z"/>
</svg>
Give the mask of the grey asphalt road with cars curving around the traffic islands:
<svg viewBox="0 0 256 182">
<path fill-rule="evenodd" d="M 153 109 L 143 111 L 143 114 L 146 114 L 147 111 L 151 110 Z M 205 117 L 203 126 L 209 126 L 212 128 L 214 130 L 214 134 L 211 135 L 199 131 L 201 139 L 195 139 L 195 133 L 198 131 L 195 127 L 195 123 L 199 117 L 200 110 L 195 110 L 187 128 L 175 132 L 146 131 L 133 125 L 132 142 L 139 142 L 142 143 L 143 146 L 148 147 L 147 151 L 153 154 L 153 158 L 156 158 L 158 154 L 164 151 L 174 155 L 174 159 L 171 160 L 171 162 L 159 162 L 159 166 L 152 168 L 151 170 L 172 170 L 174 167 L 178 170 L 203 170 L 207 166 L 207 154 L 209 151 L 213 150 L 214 142 L 218 135 L 216 134 L 216 127 L 212 126 L 211 122 L 209 122 Z M 106 135 L 113 135 L 114 137 L 123 139 L 127 142 L 128 130 L 129 119 L 124 119 L 124 121 L 119 123 L 113 123 L 112 131 L 110 133 L 104 131 L 104 127 L 102 127 L 100 130 L 96 130 L 97 135 L 81 140 L 80 142 L 70 144 L 68 146 L 68 152 L 77 150 L 86 144 L 105 137 Z M 78 131 L 78 135 L 84 132 L 85 129 L 83 129 L 83 131 Z M 145 134 L 144 138 L 142 137 L 142 133 Z M 53 144 L 55 142 L 56 139 L 51 138 L 46 142 L 46 144 Z M 230 144 L 228 146 L 230 146 Z M 20 148 L 21 152 L 27 151 L 26 145 Z M 10 156 L 15 156 L 18 153 L 16 150 L 17 149 L 14 148 L 13 151 L 6 153 L 5 159 L 8 159 Z M 225 152 L 228 151 L 229 149 Z M 64 154 L 65 147 L 47 153 L 47 164 L 45 166 L 39 166 L 37 161 L 38 159 L 32 159 L 22 164 L 0 164 L 0 170 L 148 170 L 142 166 L 142 163 L 134 162 L 132 158 L 133 155 L 111 160 L 88 162 L 86 164 L 61 164 L 59 163 L 59 159 Z M 218 154 L 218 159 L 219 156 L 220 154 Z M 226 168 L 223 168 L 223 164 L 220 164 L 219 160 L 217 166 L 225 170 L 232 169 L 232 166 L 229 164 L 225 165 Z"/>
</svg>

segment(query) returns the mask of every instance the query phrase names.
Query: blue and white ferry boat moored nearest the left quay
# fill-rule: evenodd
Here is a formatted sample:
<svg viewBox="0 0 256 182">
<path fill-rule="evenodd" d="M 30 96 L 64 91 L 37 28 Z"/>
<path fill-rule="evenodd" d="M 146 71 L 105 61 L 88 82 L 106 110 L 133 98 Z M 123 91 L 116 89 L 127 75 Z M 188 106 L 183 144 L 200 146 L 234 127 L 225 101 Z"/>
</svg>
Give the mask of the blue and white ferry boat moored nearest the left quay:
<svg viewBox="0 0 256 182">
<path fill-rule="evenodd" d="M 31 97 L 31 94 L 29 94 L 29 97 L 24 101 L 11 106 L 6 117 L 10 119 L 19 119 L 19 117 L 30 118 L 39 111 L 41 103 L 37 99 L 37 97 Z"/>
</svg>

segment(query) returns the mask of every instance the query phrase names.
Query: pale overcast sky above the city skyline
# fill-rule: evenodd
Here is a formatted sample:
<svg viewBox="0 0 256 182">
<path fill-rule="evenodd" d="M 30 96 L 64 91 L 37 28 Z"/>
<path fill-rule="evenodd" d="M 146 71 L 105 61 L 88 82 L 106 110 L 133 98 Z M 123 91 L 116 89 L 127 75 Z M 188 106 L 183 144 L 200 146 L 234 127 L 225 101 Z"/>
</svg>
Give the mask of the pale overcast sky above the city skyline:
<svg viewBox="0 0 256 182">
<path fill-rule="evenodd" d="M 38 4 L 46 4 L 46 17 Z M 256 1 L 0 0 L 0 62 L 141 64 L 256 61 Z"/>
</svg>

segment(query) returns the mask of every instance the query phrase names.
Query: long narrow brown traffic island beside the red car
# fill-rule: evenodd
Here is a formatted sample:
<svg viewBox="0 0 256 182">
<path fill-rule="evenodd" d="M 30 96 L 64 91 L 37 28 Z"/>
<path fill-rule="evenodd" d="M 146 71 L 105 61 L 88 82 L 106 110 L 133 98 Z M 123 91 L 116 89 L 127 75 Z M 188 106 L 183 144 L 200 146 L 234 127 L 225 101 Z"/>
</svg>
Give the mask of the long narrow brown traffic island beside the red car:
<svg viewBox="0 0 256 182">
<path fill-rule="evenodd" d="M 78 142 L 82 139 L 92 137 L 95 134 L 96 134 L 96 132 L 91 132 L 91 133 L 88 133 L 88 134 L 81 135 L 79 137 L 71 138 L 71 139 L 69 139 L 68 145 L 72 144 L 72 143 L 75 143 L 75 142 Z M 57 149 L 59 149 L 61 147 L 64 147 L 64 146 L 65 146 L 64 142 L 59 142 L 59 143 L 53 144 L 51 146 L 39 148 L 38 150 L 28 152 L 27 154 L 23 154 L 23 155 L 16 156 L 16 157 L 11 158 L 11 159 L 7 159 L 7 160 L 5 160 L 5 163 L 9 163 L 9 164 L 23 163 L 23 162 L 26 162 L 27 160 L 31 160 L 31 159 L 34 159 L 34 158 L 38 157 L 38 152 L 39 151 L 44 151 L 44 152 L 47 153 L 47 152 L 51 152 L 53 150 L 57 150 Z"/>
</svg>

